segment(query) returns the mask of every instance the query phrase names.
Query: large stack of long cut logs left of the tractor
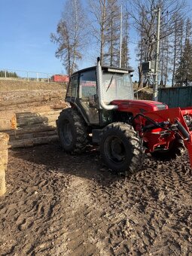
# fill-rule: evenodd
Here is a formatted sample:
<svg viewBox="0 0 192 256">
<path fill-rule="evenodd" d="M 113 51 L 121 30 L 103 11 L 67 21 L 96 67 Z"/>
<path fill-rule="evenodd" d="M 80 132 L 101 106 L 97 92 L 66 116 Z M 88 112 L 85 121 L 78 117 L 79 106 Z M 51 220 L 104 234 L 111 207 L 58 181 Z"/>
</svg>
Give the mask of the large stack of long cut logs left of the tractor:
<svg viewBox="0 0 192 256">
<path fill-rule="evenodd" d="M 60 90 L 19 90 L 0 96 L 0 131 L 12 148 L 56 142 L 56 119 L 66 108 Z"/>
</svg>

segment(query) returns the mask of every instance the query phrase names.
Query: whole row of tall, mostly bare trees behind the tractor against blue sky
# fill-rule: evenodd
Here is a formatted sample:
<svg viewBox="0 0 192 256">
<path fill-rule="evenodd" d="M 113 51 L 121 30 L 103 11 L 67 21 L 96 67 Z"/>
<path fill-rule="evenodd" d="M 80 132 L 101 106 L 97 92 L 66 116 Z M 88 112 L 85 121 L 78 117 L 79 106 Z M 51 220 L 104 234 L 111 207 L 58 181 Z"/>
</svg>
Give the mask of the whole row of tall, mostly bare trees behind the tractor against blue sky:
<svg viewBox="0 0 192 256">
<path fill-rule="evenodd" d="M 136 77 L 143 87 L 153 79 L 142 72 L 142 62 L 157 56 L 158 8 L 160 84 L 188 86 L 192 82 L 192 23 L 185 0 L 67 0 L 56 32 L 50 35 L 57 45 L 56 57 L 69 75 L 79 68 L 82 59 L 89 58 L 95 64 L 98 55 L 102 65 L 127 68 L 133 50 L 130 45 L 135 44 Z"/>
</svg>

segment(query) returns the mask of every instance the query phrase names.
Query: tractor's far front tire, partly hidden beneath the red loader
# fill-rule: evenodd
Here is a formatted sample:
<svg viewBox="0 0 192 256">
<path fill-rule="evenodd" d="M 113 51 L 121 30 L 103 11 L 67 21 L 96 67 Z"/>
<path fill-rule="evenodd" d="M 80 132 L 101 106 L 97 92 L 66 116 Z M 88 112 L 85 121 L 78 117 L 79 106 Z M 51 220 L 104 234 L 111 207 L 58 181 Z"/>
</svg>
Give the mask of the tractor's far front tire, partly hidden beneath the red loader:
<svg viewBox="0 0 192 256">
<path fill-rule="evenodd" d="M 169 148 L 166 150 L 157 150 L 151 153 L 151 155 L 160 160 L 171 160 L 177 157 L 181 157 L 186 148 L 182 139 L 175 138 L 169 144 Z"/>
</svg>

